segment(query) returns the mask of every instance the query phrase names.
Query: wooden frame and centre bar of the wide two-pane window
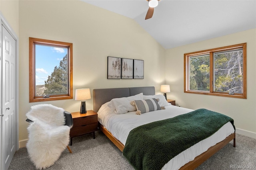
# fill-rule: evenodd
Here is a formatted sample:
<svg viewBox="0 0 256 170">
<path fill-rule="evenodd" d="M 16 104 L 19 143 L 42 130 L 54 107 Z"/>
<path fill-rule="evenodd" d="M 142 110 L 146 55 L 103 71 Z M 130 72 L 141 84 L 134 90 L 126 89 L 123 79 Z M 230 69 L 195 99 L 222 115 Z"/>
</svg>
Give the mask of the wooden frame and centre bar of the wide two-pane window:
<svg viewBox="0 0 256 170">
<path fill-rule="evenodd" d="M 243 93 L 242 94 L 229 94 L 228 92 L 214 92 L 213 89 L 213 77 L 214 77 L 214 59 L 213 53 L 227 51 L 232 49 L 243 49 Z M 189 90 L 189 57 L 210 54 L 210 91 L 200 91 L 200 90 Z M 205 95 L 213 95 L 213 96 L 224 96 L 231 98 L 243 98 L 246 99 L 246 43 L 230 45 L 225 47 L 219 47 L 214 49 L 208 49 L 203 51 L 196 51 L 192 53 L 184 54 L 184 93 L 192 93 L 192 94 L 205 94 Z"/>
</svg>

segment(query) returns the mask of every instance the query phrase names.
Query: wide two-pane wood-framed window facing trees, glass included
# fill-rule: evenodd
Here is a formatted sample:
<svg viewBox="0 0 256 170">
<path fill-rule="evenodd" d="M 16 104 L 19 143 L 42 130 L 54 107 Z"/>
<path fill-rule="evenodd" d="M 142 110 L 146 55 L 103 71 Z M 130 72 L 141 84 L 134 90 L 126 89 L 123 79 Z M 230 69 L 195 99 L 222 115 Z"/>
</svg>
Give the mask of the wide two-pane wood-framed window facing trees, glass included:
<svg viewBox="0 0 256 170">
<path fill-rule="evenodd" d="M 246 98 L 246 43 L 184 54 L 184 92 Z"/>
</svg>

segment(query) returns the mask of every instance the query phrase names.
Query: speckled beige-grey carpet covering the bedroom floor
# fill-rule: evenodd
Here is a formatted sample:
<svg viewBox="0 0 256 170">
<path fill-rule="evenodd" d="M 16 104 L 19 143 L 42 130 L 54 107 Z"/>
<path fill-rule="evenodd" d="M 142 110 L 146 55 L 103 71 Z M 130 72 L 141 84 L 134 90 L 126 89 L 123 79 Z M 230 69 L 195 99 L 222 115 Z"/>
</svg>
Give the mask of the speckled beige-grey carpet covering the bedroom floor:
<svg viewBox="0 0 256 170">
<path fill-rule="evenodd" d="M 101 132 L 73 138 L 70 146 L 73 153 L 64 150 L 58 161 L 47 170 L 134 170 L 122 157 L 122 152 Z M 196 170 L 256 169 L 256 139 L 236 134 L 236 148 L 233 141 L 214 154 Z M 236 168 L 231 168 L 231 166 Z M 241 168 L 240 168 L 241 167 Z M 19 149 L 9 170 L 34 170 L 26 148 Z M 252 168 L 251 168 L 252 169 Z"/>
</svg>

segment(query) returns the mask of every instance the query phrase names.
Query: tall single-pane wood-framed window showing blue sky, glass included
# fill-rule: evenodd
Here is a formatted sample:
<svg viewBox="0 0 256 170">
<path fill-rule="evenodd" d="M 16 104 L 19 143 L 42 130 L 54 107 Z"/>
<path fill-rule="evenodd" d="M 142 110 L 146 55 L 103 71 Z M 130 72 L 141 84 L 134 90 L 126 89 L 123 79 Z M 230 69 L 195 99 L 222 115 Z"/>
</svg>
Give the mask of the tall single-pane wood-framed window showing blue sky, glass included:
<svg viewBox="0 0 256 170">
<path fill-rule="evenodd" d="M 73 98 L 72 46 L 29 38 L 29 102 Z"/>
</svg>

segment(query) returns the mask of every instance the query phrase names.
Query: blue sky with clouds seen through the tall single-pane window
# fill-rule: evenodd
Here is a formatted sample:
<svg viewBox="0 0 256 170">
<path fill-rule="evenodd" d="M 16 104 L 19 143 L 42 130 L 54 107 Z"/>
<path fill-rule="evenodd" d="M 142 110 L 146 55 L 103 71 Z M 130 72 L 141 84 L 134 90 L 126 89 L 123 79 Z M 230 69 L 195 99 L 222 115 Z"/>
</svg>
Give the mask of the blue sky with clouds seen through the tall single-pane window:
<svg viewBox="0 0 256 170">
<path fill-rule="evenodd" d="M 36 45 L 36 85 L 44 84 L 66 54 L 66 48 Z"/>
</svg>

